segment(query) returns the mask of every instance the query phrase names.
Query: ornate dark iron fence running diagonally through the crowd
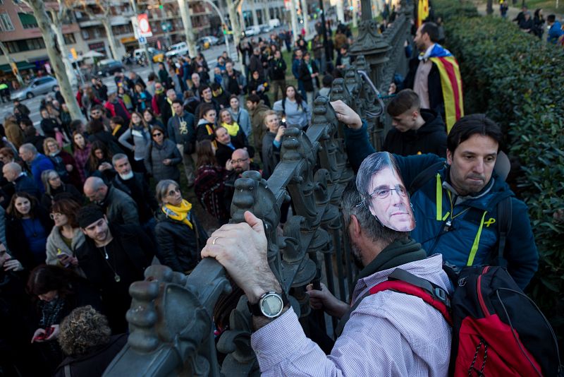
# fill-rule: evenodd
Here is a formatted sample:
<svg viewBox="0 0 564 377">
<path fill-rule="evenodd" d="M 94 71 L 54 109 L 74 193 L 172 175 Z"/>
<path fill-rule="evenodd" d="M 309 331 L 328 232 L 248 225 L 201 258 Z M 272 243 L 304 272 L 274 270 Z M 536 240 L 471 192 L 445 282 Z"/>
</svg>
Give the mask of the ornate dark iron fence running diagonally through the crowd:
<svg viewBox="0 0 564 377">
<path fill-rule="evenodd" d="M 376 32 L 373 20 L 362 21 L 359 39 L 351 51 L 355 65 L 334 80 L 331 101 L 343 100 L 367 120 L 376 148 L 387 127 L 384 102 L 396 72 L 405 72 L 404 42 L 410 30 L 410 9 L 405 6 L 391 28 Z M 235 182 L 231 222 L 242 222 L 250 210 L 264 222 L 268 260 L 290 299 L 300 323 L 309 333 L 308 316 L 321 328 L 323 313 L 312 313 L 305 287 L 323 281 L 343 301 L 355 280 L 348 244 L 343 242 L 340 201 L 354 174 L 348 167 L 343 125 L 326 97 L 314 101 L 312 125 L 303 133 L 288 128 L 283 136 L 281 162 L 268 181 L 259 172 L 245 172 Z M 278 235 L 281 206 L 293 203 L 293 216 Z M 252 321 L 246 297 L 228 280 L 214 259 L 206 258 L 190 275 L 152 265 L 146 279 L 130 287 L 133 297 L 127 313 L 128 344 L 106 369 L 104 376 L 249 376 L 259 366 L 250 346 Z M 218 301 L 237 303 L 228 316 L 228 330 L 214 337 L 214 309 Z M 233 305 L 235 306 L 235 305 Z M 217 311 L 216 311 L 217 314 Z M 221 362 L 220 362 L 221 361 Z"/>
</svg>

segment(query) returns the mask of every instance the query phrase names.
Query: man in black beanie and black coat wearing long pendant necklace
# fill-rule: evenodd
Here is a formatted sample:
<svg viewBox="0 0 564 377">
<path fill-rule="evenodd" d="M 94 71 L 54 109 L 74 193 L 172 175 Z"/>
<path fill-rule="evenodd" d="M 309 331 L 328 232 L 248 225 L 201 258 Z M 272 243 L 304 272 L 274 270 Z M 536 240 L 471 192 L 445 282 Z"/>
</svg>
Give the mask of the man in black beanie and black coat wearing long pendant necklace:
<svg viewBox="0 0 564 377">
<path fill-rule="evenodd" d="M 109 224 L 97 205 L 80 208 L 78 225 L 86 235 L 76 250 L 78 264 L 102 294 L 104 313 L 113 333 L 128 330 L 125 313 L 131 304 L 129 286 L 144 280 L 154 257 L 154 243 L 135 225 Z"/>
</svg>

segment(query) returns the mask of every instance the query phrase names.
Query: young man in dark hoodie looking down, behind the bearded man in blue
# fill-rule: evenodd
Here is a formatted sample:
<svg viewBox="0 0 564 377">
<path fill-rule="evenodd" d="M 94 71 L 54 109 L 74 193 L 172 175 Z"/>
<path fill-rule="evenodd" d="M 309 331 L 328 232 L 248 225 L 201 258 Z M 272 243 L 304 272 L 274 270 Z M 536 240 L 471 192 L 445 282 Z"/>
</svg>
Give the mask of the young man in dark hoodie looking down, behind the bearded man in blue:
<svg viewBox="0 0 564 377">
<path fill-rule="evenodd" d="M 411 89 L 396 95 L 386 110 L 392 118 L 383 150 L 396 155 L 434 153 L 446 157 L 446 126 L 434 110 L 421 109 L 419 96 Z"/>
</svg>

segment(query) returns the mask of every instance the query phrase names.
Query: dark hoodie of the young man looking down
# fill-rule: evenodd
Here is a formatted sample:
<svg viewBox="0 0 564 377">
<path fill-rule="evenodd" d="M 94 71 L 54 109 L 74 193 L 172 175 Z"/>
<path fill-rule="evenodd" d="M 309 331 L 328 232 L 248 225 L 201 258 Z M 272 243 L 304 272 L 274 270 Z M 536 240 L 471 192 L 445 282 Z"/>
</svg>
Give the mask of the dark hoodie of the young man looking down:
<svg viewBox="0 0 564 377">
<path fill-rule="evenodd" d="M 382 150 L 400 156 L 433 153 L 446 157 L 446 125 L 433 110 L 421 109 L 425 124 L 418 130 L 400 132 L 392 128 L 386 135 Z"/>
</svg>

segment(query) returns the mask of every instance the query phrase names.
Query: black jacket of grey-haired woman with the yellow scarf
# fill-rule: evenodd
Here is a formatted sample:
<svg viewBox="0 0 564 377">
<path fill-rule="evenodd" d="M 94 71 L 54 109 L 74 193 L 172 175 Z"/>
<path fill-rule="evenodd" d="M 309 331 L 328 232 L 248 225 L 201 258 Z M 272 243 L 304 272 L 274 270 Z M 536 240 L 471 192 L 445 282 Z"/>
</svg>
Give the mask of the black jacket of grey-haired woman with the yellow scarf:
<svg viewBox="0 0 564 377">
<path fill-rule="evenodd" d="M 160 208 L 155 217 L 157 219 L 155 234 L 161 253 L 159 258 L 161 263 L 180 273 L 194 269 L 200 259 L 200 251 L 206 244 L 207 234 L 197 221 L 193 210 L 190 213 L 190 221 L 195 229 L 171 219 Z"/>
</svg>

